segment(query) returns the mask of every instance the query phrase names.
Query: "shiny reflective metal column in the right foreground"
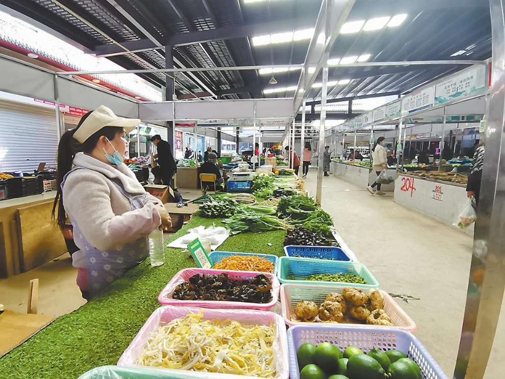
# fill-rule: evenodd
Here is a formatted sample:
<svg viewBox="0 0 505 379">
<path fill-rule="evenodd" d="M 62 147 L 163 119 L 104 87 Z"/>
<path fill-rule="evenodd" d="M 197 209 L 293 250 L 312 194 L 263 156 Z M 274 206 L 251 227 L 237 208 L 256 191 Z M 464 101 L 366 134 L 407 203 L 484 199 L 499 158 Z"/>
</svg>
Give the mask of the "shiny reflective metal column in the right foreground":
<svg viewBox="0 0 505 379">
<path fill-rule="evenodd" d="M 453 377 L 484 377 L 505 289 L 505 0 L 490 0 L 492 84 L 465 316 Z"/>
</svg>

